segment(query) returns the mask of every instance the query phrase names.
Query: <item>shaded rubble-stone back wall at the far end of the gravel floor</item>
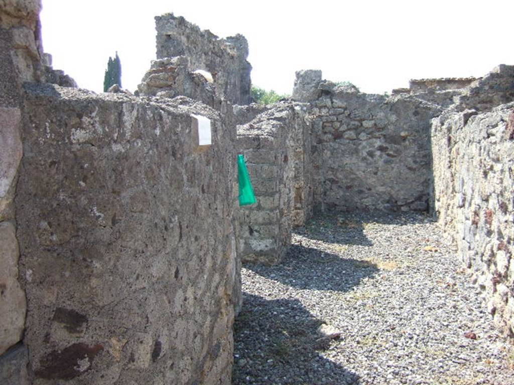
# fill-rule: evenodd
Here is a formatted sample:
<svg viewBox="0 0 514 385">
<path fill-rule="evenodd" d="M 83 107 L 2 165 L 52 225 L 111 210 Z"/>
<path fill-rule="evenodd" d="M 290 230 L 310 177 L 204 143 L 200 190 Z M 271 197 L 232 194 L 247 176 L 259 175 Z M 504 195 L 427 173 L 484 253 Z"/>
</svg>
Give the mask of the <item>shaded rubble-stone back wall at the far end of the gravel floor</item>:
<svg viewBox="0 0 514 385">
<path fill-rule="evenodd" d="M 427 210 L 430 119 L 441 108 L 409 95 L 386 98 L 318 84 L 313 108 L 318 209 Z"/>
</svg>

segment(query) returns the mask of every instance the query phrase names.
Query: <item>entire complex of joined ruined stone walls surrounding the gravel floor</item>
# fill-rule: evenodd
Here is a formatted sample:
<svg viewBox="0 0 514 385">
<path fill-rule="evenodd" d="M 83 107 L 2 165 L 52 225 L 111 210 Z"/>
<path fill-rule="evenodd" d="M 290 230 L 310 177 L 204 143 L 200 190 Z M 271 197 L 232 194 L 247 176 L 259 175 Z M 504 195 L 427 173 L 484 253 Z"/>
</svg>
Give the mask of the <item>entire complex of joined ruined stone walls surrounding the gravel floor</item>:
<svg viewBox="0 0 514 385">
<path fill-rule="evenodd" d="M 75 85 L 39 10 L 0 0 L 0 383 L 230 383 L 241 259 L 280 262 L 315 206 L 435 208 L 512 335 L 514 67 L 393 97 L 299 71 L 296 102 L 232 108 L 244 37 L 167 14 L 143 96 L 96 95 L 43 84 Z"/>
</svg>

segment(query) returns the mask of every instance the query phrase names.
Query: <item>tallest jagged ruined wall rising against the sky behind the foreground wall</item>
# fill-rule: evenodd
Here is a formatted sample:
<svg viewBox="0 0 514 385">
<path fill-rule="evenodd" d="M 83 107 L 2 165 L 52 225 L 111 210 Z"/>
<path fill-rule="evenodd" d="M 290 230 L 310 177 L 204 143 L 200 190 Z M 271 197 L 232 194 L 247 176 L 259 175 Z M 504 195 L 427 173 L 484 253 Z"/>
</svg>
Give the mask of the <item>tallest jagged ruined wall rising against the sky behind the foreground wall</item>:
<svg viewBox="0 0 514 385">
<path fill-rule="evenodd" d="M 251 65 L 248 42 L 243 35 L 218 38 L 209 30 L 202 31 L 183 17 L 167 13 L 155 17 L 157 59 L 187 56 L 190 70 L 209 71 L 216 93 L 232 104 L 248 104 Z"/>
</svg>

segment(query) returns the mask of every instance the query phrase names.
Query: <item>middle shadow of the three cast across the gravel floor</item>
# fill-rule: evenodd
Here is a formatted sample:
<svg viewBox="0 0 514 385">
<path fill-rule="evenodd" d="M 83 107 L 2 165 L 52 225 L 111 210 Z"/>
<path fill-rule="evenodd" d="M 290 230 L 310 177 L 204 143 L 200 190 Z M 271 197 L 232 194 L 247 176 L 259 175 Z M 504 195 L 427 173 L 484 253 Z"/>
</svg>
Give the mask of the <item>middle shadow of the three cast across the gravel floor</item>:
<svg viewBox="0 0 514 385">
<path fill-rule="evenodd" d="M 365 277 L 378 273 L 376 264 L 344 259 L 316 248 L 291 245 L 284 260 L 275 266 L 245 263 L 245 268 L 262 277 L 308 290 L 347 292 Z"/>
</svg>

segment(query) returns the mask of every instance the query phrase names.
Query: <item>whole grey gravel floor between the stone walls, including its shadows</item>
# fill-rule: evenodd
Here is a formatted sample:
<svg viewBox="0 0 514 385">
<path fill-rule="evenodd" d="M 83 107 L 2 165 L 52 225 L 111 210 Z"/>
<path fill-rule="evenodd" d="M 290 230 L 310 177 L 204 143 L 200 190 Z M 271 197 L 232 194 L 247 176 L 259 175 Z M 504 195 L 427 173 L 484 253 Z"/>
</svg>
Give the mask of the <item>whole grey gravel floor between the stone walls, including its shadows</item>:
<svg viewBox="0 0 514 385">
<path fill-rule="evenodd" d="M 514 385 L 514 347 L 423 215 L 317 217 L 242 275 L 234 384 Z"/>
</svg>

